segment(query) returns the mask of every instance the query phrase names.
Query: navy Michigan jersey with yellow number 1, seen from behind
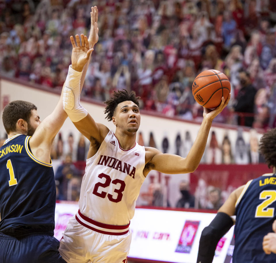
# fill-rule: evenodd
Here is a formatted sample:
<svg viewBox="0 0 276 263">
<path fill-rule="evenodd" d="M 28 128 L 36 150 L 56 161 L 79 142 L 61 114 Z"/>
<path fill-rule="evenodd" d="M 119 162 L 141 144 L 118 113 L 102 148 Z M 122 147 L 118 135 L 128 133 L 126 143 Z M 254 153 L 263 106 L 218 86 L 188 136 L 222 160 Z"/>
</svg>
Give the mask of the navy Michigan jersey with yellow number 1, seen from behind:
<svg viewBox="0 0 276 263">
<path fill-rule="evenodd" d="M 34 157 L 30 136 L 18 134 L 0 148 L 0 232 L 53 233 L 55 178 L 51 163 Z"/>
</svg>

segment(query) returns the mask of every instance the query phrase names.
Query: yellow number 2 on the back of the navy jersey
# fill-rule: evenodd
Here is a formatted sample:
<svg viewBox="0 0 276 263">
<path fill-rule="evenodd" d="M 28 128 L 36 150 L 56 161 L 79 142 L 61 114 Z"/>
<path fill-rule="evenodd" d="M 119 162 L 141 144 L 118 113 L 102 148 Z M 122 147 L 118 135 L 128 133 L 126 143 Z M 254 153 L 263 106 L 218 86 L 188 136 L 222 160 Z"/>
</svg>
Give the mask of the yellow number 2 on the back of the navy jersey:
<svg viewBox="0 0 276 263">
<path fill-rule="evenodd" d="M 276 191 L 264 190 L 260 193 L 259 199 L 265 199 L 265 200 L 257 206 L 255 217 L 273 217 L 274 208 L 267 208 L 267 207 L 276 201 Z"/>
</svg>

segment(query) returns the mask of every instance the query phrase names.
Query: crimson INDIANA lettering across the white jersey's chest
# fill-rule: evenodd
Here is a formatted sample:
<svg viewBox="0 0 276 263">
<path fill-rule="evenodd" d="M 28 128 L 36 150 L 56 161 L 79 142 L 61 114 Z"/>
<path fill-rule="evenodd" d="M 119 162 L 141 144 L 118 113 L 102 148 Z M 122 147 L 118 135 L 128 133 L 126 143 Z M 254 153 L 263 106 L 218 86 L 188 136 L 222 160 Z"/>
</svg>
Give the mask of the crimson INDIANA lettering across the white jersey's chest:
<svg viewBox="0 0 276 263">
<path fill-rule="evenodd" d="M 130 164 L 122 162 L 119 159 L 116 159 L 114 157 L 101 155 L 100 159 L 99 159 L 99 162 L 97 164 L 108 166 L 112 169 L 115 169 L 115 170 L 118 170 L 120 172 L 126 173 L 129 176 L 131 176 L 133 179 L 135 177 L 135 171 L 136 171 L 135 167 L 132 167 Z"/>
</svg>

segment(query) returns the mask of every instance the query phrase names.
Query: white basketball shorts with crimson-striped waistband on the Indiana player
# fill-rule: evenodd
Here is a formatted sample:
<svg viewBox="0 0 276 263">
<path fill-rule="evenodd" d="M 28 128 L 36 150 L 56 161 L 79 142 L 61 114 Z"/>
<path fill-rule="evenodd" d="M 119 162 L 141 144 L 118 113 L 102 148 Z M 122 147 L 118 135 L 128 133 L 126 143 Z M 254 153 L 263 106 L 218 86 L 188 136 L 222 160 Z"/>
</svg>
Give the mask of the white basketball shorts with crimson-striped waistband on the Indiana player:
<svg viewBox="0 0 276 263">
<path fill-rule="evenodd" d="M 109 228 L 112 225 L 93 220 L 88 222 L 85 219 L 89 220 L 80 211 L 70 218 L 60 241 L 59 251 L 62 258 L 70 263 L 127 263 L 131 243 L 129 225 L 123 230 L 116 230 L 121 226 L 113 226 L 114 230 Z M 125 233 L 126 229 L 127 233 Z M 111 231 L 111 234 L 103 234 L 108 233 L 104 230 Z"/>
</svg>

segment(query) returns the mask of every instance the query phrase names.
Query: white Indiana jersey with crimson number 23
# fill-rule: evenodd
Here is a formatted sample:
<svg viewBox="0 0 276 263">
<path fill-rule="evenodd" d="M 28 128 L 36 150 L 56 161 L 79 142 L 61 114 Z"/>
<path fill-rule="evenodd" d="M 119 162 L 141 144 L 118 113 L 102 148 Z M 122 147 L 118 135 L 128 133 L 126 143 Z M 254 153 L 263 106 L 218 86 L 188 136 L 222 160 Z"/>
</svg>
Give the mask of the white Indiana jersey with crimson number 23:
<svg viewBox="0 0 276 263">
<path fill-rule="evenodd" d="M 136 143 L 123 150 L 109 131 L 97 153 L 86 161 L 80 212 L 104 224 L 128 224 L 145 180 L 144 167 L 145 147 Z"/>
</svg>

